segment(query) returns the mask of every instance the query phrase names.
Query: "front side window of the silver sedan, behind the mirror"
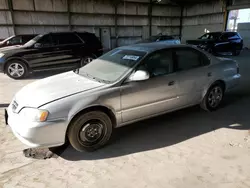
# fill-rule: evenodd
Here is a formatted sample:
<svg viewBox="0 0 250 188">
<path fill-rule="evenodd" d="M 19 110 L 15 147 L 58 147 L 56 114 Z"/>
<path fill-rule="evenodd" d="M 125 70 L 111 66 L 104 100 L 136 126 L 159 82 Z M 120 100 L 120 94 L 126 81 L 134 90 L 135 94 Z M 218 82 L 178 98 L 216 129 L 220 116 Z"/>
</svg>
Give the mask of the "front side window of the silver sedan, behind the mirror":
<svg viewBox="0 0 250 188">
<path fill-rule="evenodd" d="M 163 76 L 173 73 L 173 58 L 171 50 L 161 50 L 150 55 L 141 65 L 150 77 Z"/>
</svg>

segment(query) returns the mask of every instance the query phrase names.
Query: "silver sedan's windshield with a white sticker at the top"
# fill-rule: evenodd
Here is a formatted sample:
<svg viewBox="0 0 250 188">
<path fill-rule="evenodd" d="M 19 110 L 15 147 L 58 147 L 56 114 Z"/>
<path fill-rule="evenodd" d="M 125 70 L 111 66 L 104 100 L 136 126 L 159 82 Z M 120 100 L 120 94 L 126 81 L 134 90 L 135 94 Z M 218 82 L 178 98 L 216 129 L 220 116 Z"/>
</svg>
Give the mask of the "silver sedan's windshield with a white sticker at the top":
<svg viewBox="0 0 250 188">
<path fill-rule="evenodd" d="M 90 79 L 113 83 L 134 67 L 146 52 L 126 49 L 112 50 L 79 69 L 79 74 Z"/>
</svg>

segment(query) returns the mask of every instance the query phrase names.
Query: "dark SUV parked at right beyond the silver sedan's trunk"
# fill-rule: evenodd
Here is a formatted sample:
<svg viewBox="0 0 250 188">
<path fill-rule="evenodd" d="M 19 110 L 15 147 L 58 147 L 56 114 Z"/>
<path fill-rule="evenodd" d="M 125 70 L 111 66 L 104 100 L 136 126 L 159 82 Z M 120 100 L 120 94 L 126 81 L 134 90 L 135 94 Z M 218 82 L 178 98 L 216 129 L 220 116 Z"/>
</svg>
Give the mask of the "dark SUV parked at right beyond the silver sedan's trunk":
<svg viewBox="0 0 250 188">
<path fill-rule="evenodd" d="M 187 40 L 187 44 L 196 45 L 215 55 L 228 54 L 237 56 L 243 48 L 243 39 L 237 32 L 211 32 L 197 40 Z"/>
</svg>

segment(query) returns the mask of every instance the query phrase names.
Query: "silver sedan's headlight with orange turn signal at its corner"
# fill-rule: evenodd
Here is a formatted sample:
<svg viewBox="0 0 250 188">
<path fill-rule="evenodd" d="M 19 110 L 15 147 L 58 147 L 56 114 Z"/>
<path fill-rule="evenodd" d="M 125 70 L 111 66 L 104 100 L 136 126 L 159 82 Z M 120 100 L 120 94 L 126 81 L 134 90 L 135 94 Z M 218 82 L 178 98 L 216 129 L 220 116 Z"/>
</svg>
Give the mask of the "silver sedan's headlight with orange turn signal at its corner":
<svg viewBox="0 0 250 188">
<path fill-rule="evenodd" d="M 31 121 L 43 122 L 46 121 L 49 112 L 47 110 L 40 110 L 36 108 L 23 108 L 20 115 Z"/>
</svg>

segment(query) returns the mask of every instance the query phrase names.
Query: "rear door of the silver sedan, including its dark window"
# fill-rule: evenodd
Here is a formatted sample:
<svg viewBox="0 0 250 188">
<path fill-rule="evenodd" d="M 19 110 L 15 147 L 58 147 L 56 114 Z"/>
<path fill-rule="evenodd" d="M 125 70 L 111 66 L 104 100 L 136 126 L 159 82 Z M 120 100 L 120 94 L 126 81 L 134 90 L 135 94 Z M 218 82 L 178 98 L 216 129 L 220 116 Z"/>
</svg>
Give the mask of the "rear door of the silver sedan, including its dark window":
<svg viewBox="0 0 250 188">
<path fill-rule="evenodd" d="M 175 70 L 178 77 L 178 106 L 197 104 L 204 88 L 210 83 L 212 72 L 207 68 L 209 58 L 202 52 L 190 48 L 174 49 Z"/>
</svg>

